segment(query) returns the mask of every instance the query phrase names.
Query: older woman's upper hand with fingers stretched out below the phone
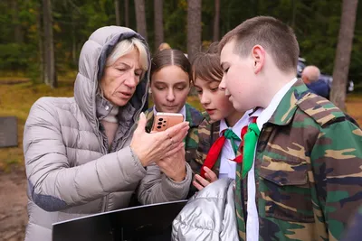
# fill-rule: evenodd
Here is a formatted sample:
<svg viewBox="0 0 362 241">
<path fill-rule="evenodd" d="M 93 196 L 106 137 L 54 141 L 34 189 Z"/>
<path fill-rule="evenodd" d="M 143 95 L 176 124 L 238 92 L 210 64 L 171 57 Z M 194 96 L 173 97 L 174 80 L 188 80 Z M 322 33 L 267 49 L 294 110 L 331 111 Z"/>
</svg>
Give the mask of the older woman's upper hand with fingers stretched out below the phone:
<svg viewBox="0 0 362 241">
<path fill-rule="evenodd" d="M 184 148 L 183 140 L 189 129 L 188 122 L 177 124 L 163 132 L 151 134 L 145 130 L 146 123 L 146 116 L 141 113 L 138 127 L 130 142 L 130 148 L 138 156 L 143 166 L 174 155 Z"/>
</svg>

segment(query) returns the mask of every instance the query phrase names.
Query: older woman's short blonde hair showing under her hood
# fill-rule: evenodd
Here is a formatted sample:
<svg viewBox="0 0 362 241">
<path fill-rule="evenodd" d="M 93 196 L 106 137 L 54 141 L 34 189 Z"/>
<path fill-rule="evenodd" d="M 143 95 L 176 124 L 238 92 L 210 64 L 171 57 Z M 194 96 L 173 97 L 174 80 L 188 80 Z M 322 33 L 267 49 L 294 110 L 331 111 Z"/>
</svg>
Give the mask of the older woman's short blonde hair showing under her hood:
<svg viewBox="0 0 362 241">
<path fill-rule="evenodd" d="M 112 65 L 115 61 L 129 52 L 137 49 L 139 52 L 139 62 L 142 70 L 148 70 L 148 51 L 146 45 L 137 38 L 130 38 L 117 43 L 107 59 L 106 66 Z"/>
</svg>

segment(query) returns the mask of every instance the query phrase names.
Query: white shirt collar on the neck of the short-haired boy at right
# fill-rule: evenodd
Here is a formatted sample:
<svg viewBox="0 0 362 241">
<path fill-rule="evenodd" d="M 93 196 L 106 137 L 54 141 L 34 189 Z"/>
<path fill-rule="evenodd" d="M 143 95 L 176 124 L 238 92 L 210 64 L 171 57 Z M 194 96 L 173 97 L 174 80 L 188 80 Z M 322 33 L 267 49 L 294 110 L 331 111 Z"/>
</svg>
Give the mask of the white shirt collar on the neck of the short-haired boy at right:
<svg viewBox="0 0 362 241">
<path fill-rule="evenodd" d="M 289 83 L 284 85 L 271 99 L 271 103 L 268 107 L 266 107 L 259 118 L 256 120 L 256 124 L 258 125 L 259 130 L 262 130 L 262 125 L 264 125 L 271 118 L 272 114 L 274 114 L 275 110 L 281 103 L 281 99 L 287 94 L 288 90 L 297 82 L 297 78 L 291 79 Z"/>
</svg>

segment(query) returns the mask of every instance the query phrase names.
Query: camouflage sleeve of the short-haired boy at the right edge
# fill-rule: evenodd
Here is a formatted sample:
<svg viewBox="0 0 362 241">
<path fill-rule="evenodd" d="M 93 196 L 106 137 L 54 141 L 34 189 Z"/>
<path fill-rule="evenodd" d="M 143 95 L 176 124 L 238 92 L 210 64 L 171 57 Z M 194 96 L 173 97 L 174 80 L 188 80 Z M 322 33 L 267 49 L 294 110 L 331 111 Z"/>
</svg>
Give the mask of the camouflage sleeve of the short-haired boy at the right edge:
<svg viewBox="0 0 362 241">
<path fill-rule="evenodd" d="M 326 224 L 329 240 L 339 240 L 362 204 L 361 129 L 348 120 L 320 127 L 310 162 L 318 196 L 314 200 L 319 201 L 313 206 L 321 209 L 316 218 Z"/>
</svg>

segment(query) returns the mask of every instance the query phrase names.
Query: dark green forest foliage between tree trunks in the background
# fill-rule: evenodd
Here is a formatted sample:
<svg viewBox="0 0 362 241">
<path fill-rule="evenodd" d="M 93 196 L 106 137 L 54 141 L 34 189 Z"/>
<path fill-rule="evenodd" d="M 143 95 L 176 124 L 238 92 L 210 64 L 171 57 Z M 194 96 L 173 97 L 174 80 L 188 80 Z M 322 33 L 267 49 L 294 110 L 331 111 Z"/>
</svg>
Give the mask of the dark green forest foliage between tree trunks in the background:
<svg viewBox="0 0 362 241">
<path fill-rule="evenodd" d="M 27 75 L 40 73 L 38 14 L 42 14 L 42 1 L 0 1 L 0 66 L 5 70 L 21 70 Z M 214 0 L 203 0 L 202 40 L 212 42 L 214 34 Z M 145 0 L 148 44 L 154 46 L 154 5 Z M 165 42 L 186 52 L 187 0 L 164 1 Z M 17 21 L 14 14 L 17 13 Z M 121 24 L 125 23 L 124 0 L 119 0 Z M 136 28 L 134 1 L 129 0 L 130 28 Z M 300 42 L 300 56 L 329 74 L 334 67 L 341 15 L 340 0 L 220 0 L 220 33 L 222 37 L 255 15 L 271 15 L 288 23 Z M 57 71 L 76 70 L 82 44 L 90 33 L 101 26 L 115 24 L 114 0 L 52 0 L 52 16 Z M 358 5 L 355 38 L 349 76 L 362 81 L 362 5 Z M 23 42 L 15 42 L 14 29 L 20 25 Z"/>
</svg>

